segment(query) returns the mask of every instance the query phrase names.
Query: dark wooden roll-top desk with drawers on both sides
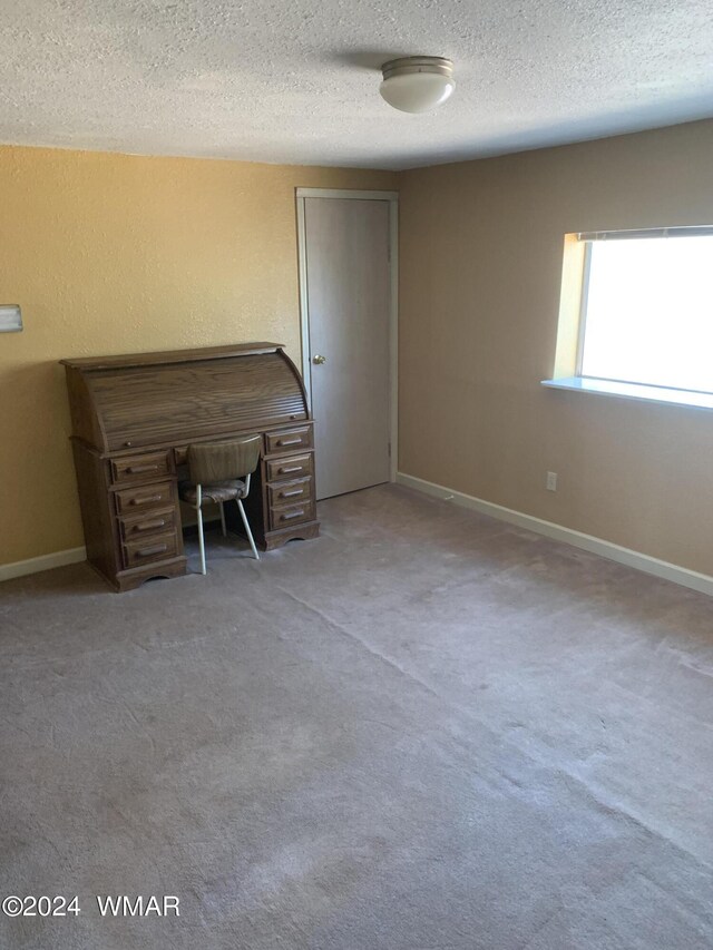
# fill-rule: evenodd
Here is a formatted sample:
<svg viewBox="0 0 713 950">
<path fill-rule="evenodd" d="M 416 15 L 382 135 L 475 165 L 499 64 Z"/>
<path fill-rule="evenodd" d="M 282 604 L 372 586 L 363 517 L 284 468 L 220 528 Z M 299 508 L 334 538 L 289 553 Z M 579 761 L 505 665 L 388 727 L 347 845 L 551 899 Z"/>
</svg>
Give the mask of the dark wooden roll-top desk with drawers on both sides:
<svg viewBox="0 0 713 950">
<path fill-rule="evenodd" d="M 61 362 L 87 559 L 117 590 L 186 574 L 177 486 L 192 442 L 260 434 L 255 541 L 319 535 L 313 423 L 281 344 Z"/>
</svg>

